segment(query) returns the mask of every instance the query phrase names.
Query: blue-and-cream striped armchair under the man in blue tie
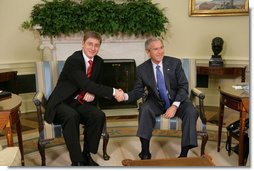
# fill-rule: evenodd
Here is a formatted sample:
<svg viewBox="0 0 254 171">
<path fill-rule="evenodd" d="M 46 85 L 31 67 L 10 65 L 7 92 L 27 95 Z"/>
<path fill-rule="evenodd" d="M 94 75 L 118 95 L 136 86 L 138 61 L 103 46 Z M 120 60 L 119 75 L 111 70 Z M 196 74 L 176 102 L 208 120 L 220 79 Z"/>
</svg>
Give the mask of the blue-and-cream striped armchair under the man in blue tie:
<svg viewBox="0 0 254 171">
<path fill-rule="evenodd" d="M 204 110 L 204 99 L 205 94 L 202 93 L 198 88 L 196 88 L 196 64 L 195 59 L 182 59 L 182 66 L 185 75 L 189 81 L 190 99 L 192 100 L 194 106 L 197 107 L 199 112 L 199 118 L 197 120 L 197 132 L 201 136 L 201 155 L 205 154 L 205 145 L 208 141 L 208 134 L 206 132 L 206 116 Z M 145 100 L 146 93 L 144 95 L 143 101 Z M 198 105 L 196 105 L 198 103 Z M 163 115 L 156 117 L 155 129 L 154 131 L 163 130 L 174 130 L 181 131 L 182 120 L 178 117 L 171 119 L 165 119 Z M 168 135 L 168 134 L 167 134 Z"/>
</svg>

